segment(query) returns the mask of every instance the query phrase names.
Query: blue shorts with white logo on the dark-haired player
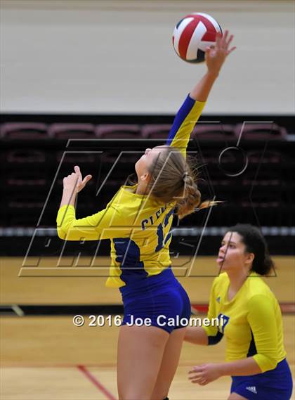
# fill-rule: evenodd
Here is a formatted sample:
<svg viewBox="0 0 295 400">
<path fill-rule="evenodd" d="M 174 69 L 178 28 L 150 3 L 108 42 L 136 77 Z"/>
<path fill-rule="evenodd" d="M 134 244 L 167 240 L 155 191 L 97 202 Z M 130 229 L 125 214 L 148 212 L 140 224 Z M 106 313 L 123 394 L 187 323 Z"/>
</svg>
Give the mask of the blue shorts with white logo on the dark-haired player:
<svg viewBox="0 0 295 400">
<path fill-rule="evenodd" d="M 273 370 L 250 376 L 232 376 L 230 393 L 235 392 L 248 400 L 290 400 L 293 382 L 287 360 Z"/>
</svg>

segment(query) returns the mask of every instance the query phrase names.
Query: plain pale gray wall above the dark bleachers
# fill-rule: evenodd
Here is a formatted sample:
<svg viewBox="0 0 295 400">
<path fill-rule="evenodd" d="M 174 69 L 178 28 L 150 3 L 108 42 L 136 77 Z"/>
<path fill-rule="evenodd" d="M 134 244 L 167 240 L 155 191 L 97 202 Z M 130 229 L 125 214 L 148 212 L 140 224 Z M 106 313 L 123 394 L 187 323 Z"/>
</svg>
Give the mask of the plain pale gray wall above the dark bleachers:
<svg viewBox="0 0 295 400">
<path fill-rule="evenodd" d="M 1 1 L 1 111 L 172 113 L 204 73 L 171 46 L 190 12 L 235 34 L 207 114 L 294 112 L 293 1 Z"/>
</svg>

